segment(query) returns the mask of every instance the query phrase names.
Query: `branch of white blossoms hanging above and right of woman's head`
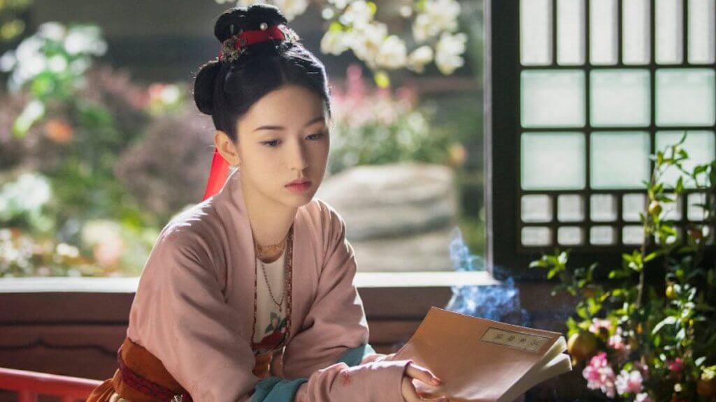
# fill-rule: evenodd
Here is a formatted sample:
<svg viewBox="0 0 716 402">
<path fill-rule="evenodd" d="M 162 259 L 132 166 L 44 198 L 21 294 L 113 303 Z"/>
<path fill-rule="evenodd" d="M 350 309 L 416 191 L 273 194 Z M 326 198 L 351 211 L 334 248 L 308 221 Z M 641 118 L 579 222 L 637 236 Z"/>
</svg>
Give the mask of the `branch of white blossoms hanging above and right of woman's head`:
<svg viewBox="0 0 716 402">
<path fill-rule="evenodd" d="M 248 6 L 269 3 L 278 6 L 286 19 L 304 14 L 309 0 L 215 0 Z M 377 5 L 372 1 L 316 0 L 327 29 L 321 39 L 321 52 L 339 55 L 348 50 L 375 74 L 376 82 L 387 87 L 387 71 L 409 69 L 422 73 L 432 62 L 442 74 L 453 74 L 463 67 L 468 36 L 458 32 L 460 4 L 456 0 L 407 0 L 400 16 L 411 23 L 410 41 L 391 33 L 388 26 L 374 19 Z M 410 43 L 410 44 L 409 44 Z"/>
</svg>

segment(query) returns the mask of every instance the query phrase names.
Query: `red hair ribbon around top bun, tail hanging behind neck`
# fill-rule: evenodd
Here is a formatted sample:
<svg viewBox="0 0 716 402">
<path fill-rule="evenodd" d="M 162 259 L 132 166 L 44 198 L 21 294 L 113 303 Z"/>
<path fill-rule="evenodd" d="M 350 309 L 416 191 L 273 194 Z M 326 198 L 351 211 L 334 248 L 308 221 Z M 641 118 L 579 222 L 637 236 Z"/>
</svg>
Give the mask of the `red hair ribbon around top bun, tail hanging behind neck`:
<svg viewBox="0 0 716 402">
<path fill-rule="evenodd" d="M 244 46 L 252 44 L 270 40 L 286 40 L 286 35 L 284 35 L 284 31 L 281 30 L 280 26 L 272 25 L 267 27 L 265 30 L 244 31 L 241 34 L 233 36 L 232 39 L 227 39 L 227 41 L 229 40 L 233 41 L 233 49 L 240 51 Z M 223 58 L 223 46 L 222 49 L 219 50 L 218 58 L 220 61 Z M 211 161 L 211 172 L 209 172 L 209 179 L 206 183 L 206 190 L 202 200 L 206 200 L 208 197 L 215 195 L 219 190 L 221 190 L 221 187 L 223 187 L 226 182 L 226 178 L 228 177 L 228 168 L 228 162 L 226 162 L 223 156 L 221 156 L 218 149 L 214 149 L 214 156 Z"/>
</svg>

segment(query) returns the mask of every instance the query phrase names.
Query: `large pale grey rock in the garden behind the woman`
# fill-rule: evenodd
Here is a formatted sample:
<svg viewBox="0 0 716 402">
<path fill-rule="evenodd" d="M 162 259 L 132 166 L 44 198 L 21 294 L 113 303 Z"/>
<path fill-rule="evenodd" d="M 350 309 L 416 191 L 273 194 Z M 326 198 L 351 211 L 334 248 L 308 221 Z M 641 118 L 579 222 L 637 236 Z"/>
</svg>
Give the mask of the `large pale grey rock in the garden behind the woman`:
<svg viewBox="0 0 716 402">
<path fill-rule="evenodd" d="M 362 271 L 451 270 L 453 171 L 442 165 L 359 166 L 326 177 L 316 197 L 343 217 Z"/>
</svg>

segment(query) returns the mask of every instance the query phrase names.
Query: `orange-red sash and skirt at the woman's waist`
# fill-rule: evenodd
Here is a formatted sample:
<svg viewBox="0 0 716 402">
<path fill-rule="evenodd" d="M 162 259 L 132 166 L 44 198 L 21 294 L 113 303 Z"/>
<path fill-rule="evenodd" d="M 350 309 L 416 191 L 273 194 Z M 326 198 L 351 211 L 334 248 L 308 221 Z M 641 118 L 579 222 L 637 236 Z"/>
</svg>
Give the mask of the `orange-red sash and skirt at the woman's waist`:
<svg viewBox="0 0 716 402">
<path fill-rule="evenodd" d="M 256 356 L 253 375 L 269 376 L 273 355 Z M 109 402 L 114 393 L 131 402 L 190 402 L 191 397 L 164 368 L 162 362 L 142 346 L 125 338 L 118 351 L 120 369 L 92 391 L 87 402 Z"/>
</svg>

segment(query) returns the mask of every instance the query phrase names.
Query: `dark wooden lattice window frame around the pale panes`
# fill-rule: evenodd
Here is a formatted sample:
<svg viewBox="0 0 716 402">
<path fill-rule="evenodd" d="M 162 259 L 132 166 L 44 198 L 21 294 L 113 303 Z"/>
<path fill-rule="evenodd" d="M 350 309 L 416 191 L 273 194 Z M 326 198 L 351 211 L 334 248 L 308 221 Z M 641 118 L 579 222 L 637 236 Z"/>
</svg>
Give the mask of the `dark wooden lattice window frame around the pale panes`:
<svg viewBox="0 0 716 402">
<path fill-rule="evenodd" d="M 649 133 L 650 153 L 654 154 L 655 137 L 657 131 L 671 131 L 679 129 L 700 129 L 716 132 L 716 124 L 710 127 L 657 127 L 655 124 L 655 80 L 657 69 L 677 69 L 684 67 L 703 67 L 716 69 L 716 63 L 712 64 L 690 64 L 687 54 L 687 14 L 688 0 L 683 0 L 682 11 L 682 63 L 681 64 L 656 64 L 655 62 L 655 10 L 649 8 L 649 63 L 640 65 L 625 65 L 622 62 L 622 19 L 621 0 L 617 0 L 616 10 L 616 41 L 617 41 L 617 62 L 614 65 L 593 66 L 589 60 L 589 4 L 590 0 L 584 0 L 584 64 L 561 66 L 556 62 L 557 58 L 557 7 L 556 0 L 551 4 L 551 64 L 543 66 L 523 66 L 520 55 L 520 0 L 485 0 L 485 226 L 486 226 L 486 250 L 485 261 L 488 270 L 497 280 L 515 278 L 518 280 L 537 280 L 543 278 L 539 270 L 528 270 L 531 261 L 541 257 L 544 253 L 553 253 L 556 250 L 556 229 L 559 222 L 556 217 L 557 194 L 579 194 L 584 200 L 584 220 L 581 222 L 570 222 L 569 226 L 578 226 L 584 230 L 584 245 L 578 247 L 562 246 L 561 250 L 571 249 L 570 265 L 589 266 L 598 263 L 598 278 L 604 278 L 606 269 L 621 265 L 621 254 L 632 250 L 639 245 L 619 245 L 621 242 L 621 227 L 624 221 L 621 219 L 621 195 L 625 193 L 637 193 L 635 190 L 594 190 L 591 188 L 589 177 L 590 142 L 591 132 L 610 131 L 643 131 Z M 569 127 L 565 129 L 533 129 L 521 127 L 521 72 L 531 69 L 580 69 L 585 74 L 585 125 L 584 127 Z M 590 122 L 590 87 L 589 79 L 593 69 L 602 71 L 609 69 L 646 69 L 650 74 L 651 122 L 647 127 L 630 127 L 629 129 L 599 127 L 594 129 Z M 525 191 L 521 188 L 521 132 L 584 132 L 586 152 L 586 185 L 579 191 Z M 654 162 L 649 161 L 649 168 L 653 170 Z M 553 216 L 546 224 L 536 226 L 551 227 L 551 246 L 548 247 L 523 247 L 520 242 L 521 227 L 521 195 L 541 194 L 551 197 L 551 210 Z M 589 196 L 596 194 L 609 194 L 616 196 L 617 217 L 614 222 L 604 222 L 604 225 L 616 227 L 616 242 L 614 245 L 589 245 L 589 227 L 592 224 L 600 225 L 590 219 Z M 687 222 L 686 203 L 682 202 L 682 235 Z M 524 225 L 529 226 L 529 225 Z M 711 227 L 714 232 L 714 227 Z M 653 247 L 653 245 L 647 245 Z M 716 258 L 716 247 L 707 246 L 706 258 Z"/>
</svg>

